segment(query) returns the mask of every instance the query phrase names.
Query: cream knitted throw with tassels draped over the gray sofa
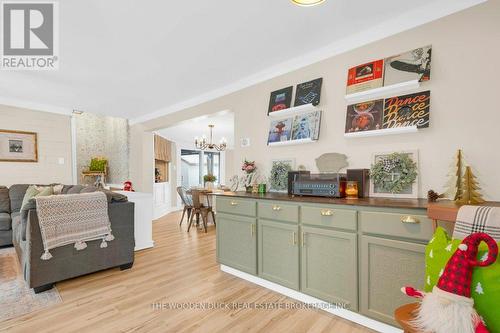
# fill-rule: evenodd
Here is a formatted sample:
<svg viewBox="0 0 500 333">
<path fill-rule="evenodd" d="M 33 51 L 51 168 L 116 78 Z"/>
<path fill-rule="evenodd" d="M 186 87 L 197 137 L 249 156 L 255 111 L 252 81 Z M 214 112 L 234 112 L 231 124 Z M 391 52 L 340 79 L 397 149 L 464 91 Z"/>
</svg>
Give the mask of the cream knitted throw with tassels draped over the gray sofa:
<svg viewBox="0 0 500 333">
<path fill-rule="evenodd" d="M 52 258 L 49 250 L 75 244 L 77 250 L 87 247 L 85 242 L 114 239 L 108 216 L 108 201 L 103 192 L 61 194 L 37 197 L 38 222 L 45 252 L 40 259 Z"/>
</svg>

